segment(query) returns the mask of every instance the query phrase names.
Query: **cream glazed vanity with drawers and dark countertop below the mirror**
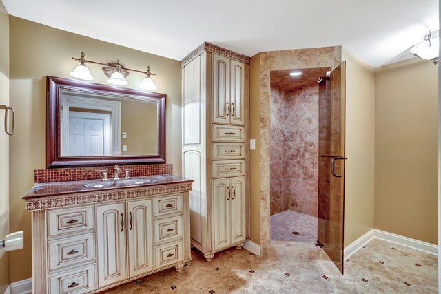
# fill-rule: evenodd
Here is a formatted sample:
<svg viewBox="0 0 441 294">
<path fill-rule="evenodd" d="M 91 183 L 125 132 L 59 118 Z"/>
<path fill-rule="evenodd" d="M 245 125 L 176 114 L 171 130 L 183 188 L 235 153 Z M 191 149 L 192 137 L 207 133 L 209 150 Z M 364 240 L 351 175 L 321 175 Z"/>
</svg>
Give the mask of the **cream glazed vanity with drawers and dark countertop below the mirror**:
<svg viewBox="0 0 441 294">
<path fill-rule="evenodd" d="M 191 260 L 192 180 L 151 178 L 105 189 L 52 182 L 26 193 L 33 293 L 96 293 L 172 266 L 181 271 Z"/>
</svg>

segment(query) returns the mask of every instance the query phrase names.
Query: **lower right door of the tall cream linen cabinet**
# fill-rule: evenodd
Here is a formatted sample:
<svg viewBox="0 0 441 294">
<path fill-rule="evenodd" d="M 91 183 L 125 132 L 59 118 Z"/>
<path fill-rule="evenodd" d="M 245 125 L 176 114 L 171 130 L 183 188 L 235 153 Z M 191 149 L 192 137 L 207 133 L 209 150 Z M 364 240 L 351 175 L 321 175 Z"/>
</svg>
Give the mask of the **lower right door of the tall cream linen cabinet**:
<svg viewBox="0 0 441 294">
<path fill-rule="evenodd" d="M 240 242 L 246 238 L 246 202 L 245 177 L 232 178 L 232 242 Z"/>
</svg>

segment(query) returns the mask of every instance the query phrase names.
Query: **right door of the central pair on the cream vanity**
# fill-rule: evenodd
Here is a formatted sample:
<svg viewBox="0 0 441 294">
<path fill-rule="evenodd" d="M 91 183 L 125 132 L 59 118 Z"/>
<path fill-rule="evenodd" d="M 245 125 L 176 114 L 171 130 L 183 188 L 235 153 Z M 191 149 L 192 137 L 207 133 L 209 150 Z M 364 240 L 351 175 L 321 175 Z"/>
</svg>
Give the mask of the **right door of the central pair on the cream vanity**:
<svg viewBox="0 0 441 294">
<path fill-rule="evenodd" d="M 129 276 L 153 269 L 152 200 L 127 202 Z"/>
</svg>

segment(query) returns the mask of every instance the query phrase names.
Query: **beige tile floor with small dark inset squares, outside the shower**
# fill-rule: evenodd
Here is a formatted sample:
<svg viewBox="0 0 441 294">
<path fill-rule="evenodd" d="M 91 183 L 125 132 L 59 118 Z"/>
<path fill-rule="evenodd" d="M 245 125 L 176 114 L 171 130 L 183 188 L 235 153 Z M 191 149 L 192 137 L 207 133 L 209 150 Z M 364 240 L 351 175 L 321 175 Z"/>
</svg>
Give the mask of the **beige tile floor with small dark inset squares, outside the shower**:
<svg viewBox="0 0 441 294">
<path fill-rule="evenodd" d="M 206 262 L 192 251 L 183 271 L 167 269 L 106 293 L 438 293 L 435 255 L 374 239 L 345 261 L 260 257 L 229 249 Z"/>
</svg>

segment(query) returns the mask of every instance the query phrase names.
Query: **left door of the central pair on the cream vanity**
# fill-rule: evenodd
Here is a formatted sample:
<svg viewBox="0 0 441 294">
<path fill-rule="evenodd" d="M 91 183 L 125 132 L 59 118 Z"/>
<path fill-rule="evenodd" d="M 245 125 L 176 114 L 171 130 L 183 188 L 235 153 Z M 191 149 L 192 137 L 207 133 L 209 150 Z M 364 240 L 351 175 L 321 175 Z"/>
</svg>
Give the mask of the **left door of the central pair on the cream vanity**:
<svg viewBox="0 0 441 294">
<path fill-rule="evenodd" d="M 124 204 L 96 207 L 96 233 L 98 249 L 98 284 L 106 286 L 125 280 L 125 216 Z"/>
</svg>

